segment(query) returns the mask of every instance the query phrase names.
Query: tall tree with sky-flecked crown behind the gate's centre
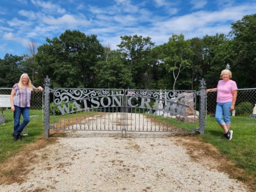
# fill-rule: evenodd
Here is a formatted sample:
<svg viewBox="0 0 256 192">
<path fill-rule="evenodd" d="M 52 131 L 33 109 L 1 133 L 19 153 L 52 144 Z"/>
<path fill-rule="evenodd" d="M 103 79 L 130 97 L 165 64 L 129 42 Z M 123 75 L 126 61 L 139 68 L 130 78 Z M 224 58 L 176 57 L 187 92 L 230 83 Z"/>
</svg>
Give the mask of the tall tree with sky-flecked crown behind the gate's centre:
<svg viewBox="0 0 256 192">
<path fill-rule="evenodd" d="M 155 43 L 150 37 L 142 36 L 121 36 L 121 43 L 117 45 L 120 51 L 126 54 L 128 65 L 132 68 L 132 82 L 137 88 L 145 88 L 141 84 L 142 78 L 151 67 L 149 54 Z"/>
</svg>

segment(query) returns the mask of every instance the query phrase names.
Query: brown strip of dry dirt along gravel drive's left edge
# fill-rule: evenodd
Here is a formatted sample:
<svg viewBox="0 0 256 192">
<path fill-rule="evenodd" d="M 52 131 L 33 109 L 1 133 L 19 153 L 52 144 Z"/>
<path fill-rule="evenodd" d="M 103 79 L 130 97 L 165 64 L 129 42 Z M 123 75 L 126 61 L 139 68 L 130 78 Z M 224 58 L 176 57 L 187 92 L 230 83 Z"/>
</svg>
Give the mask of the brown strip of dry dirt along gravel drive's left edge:
<svg viewBox="0 0 256 192">
<path fill-rule="evenodd" d="M 0 164 L 0 184 L 22 183 L 26 180 L 26 175 L 33 170 L 33 164 L 37 163 L 36 151 L 46 145 L 57 142 L 57 137 L 65 137 L 64 132 L 50 130 L 50 138 L 40 136 L 39 140 L 30 143 L 20 149 L 15 156 L 10 157 L 6 162 Z M 39 190 L 40 191 L 40 190 Z"/>
</svg>

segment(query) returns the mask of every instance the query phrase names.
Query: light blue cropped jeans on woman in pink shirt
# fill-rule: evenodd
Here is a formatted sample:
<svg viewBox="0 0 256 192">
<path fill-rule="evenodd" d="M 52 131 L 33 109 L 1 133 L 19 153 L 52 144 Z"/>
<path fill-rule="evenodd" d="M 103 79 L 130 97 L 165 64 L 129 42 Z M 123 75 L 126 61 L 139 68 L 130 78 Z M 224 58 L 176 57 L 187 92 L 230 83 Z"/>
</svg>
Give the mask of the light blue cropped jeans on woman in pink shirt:
<svg viewBox="0 0 256 192">
<path fill-rule="evenodd" d="M 224 122 L 226 125 L 230 124 L 231 105 L 232 102 L 217 103 L 215 119 L 218 121 L 219 124 L 223 124 Z M 224 121 L 222 119 L 222 116 L 224 116 Z"/>
</svg>

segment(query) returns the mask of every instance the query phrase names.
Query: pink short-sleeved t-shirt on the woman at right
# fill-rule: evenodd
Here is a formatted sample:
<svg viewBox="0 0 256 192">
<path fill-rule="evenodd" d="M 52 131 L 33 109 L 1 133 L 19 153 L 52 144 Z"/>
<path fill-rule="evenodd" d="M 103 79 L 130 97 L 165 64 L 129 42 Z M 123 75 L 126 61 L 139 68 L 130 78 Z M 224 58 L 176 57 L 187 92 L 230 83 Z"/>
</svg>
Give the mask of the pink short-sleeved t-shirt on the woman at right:
<svg viewBox="0 0 256 192">
<path fill-rule="evenodd" d="M 217 103 L 232 102 L 232 91 L 234 90 L 237 90 L 235 81 L 220 80 L 217 85 Z"/>
</svg>

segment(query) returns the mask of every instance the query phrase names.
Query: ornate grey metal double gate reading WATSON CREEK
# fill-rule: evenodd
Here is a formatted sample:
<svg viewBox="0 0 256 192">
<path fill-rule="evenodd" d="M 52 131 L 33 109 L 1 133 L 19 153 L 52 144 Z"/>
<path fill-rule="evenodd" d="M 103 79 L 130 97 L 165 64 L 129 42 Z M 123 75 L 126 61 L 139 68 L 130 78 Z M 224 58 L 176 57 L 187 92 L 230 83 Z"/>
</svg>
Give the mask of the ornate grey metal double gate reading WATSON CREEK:
<svg viewBox="0 0 256 192">
<path fill-rule="evenodd" d="M 195 132 L 196 91 L 53 89 L 59 130 Z M 193 115 L 188 116 L 188 111 Z"/>
</svg>

